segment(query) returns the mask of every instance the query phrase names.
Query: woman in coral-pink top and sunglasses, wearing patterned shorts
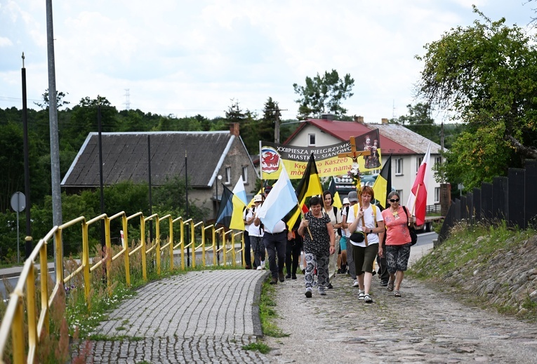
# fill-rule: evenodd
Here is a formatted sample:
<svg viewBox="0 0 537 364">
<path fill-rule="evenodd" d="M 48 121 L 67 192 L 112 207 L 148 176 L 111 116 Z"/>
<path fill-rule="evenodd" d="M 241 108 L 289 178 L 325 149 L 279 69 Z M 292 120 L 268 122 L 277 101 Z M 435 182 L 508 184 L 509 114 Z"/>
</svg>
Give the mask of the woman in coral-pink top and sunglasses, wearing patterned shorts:
<svg viewBox="0 0 537 364">
<path fill-rule="evenodd" d="M 391 191 L 387 197 L 390 207 L 382 212 L 386 226 L 385 255 L 390 274 L 387 290 L 393 291 L 395 297 L 401 297 L 399 288 L 410 257 L 409 222 L 413 224 L 413 217 L 407 215 L 402 205 L 399 205 L 399 200 L 399 194 L 396 191 Z"/>
</svg>

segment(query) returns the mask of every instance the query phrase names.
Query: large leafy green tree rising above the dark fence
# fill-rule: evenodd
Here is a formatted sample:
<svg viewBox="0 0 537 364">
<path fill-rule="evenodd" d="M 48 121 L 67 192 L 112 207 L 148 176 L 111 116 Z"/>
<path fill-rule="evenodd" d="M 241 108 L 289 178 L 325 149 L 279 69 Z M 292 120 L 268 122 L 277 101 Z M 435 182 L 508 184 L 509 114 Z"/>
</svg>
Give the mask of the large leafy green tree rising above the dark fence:
<svg viewBox="0 0 537 364">
<path fill-rule="evenodd" d="M 417 56 L 418 95 L 465 123 L 446 174 L 466 188 L 537 158 L 537 37 L 474 12 L 484 21 L 451 29 Z"/>
</svg>

